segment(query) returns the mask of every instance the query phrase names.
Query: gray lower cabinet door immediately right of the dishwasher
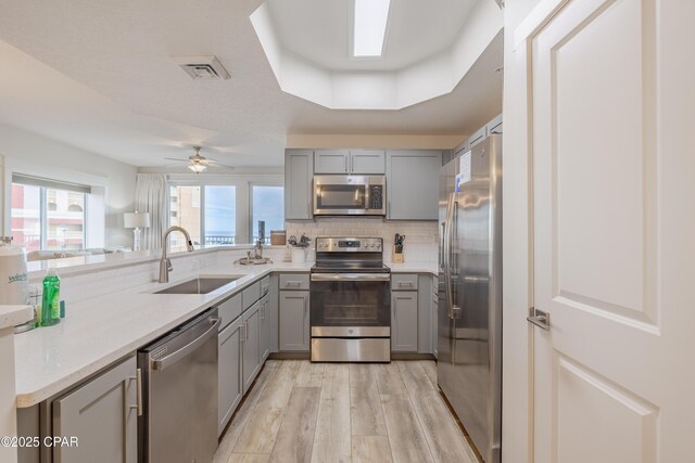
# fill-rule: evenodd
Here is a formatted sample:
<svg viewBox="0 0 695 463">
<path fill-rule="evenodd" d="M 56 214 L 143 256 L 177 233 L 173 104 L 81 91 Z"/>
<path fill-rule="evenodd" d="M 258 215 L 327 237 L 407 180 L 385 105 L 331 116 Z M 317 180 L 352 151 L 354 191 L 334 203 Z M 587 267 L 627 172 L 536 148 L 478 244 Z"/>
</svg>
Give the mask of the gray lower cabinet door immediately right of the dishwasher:
<svg viewBox="0 0 695 463">
<path fill-rule="evenodd" d="M 243 397 L 241 387 L 241 319 L 219 333 L 217 360 L 217 436 L 222 434 Z"/>
</svg>

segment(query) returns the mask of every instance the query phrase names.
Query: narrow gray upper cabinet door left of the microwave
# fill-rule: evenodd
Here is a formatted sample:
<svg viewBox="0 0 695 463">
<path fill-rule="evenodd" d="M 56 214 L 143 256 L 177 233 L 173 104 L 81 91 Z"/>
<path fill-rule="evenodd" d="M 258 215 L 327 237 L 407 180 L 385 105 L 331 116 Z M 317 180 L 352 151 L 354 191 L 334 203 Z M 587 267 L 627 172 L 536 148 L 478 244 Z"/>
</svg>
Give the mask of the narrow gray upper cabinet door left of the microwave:
<svg viewBox="0 0 695 463">
<path fill-rule="evenodd" d="M 312 190 L 314 152 L 287 150 L 285 155 L 285 218 L 306 220 L 314 217 Z"/>
</svg>

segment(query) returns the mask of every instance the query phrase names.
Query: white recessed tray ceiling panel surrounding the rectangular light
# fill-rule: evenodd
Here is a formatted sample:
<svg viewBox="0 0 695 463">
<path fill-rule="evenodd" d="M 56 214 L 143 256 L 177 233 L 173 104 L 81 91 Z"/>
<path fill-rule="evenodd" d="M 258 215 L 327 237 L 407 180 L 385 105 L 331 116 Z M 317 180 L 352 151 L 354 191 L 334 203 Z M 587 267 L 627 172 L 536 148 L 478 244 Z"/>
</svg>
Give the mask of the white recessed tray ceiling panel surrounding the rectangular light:
<svg viewBox="0 0 695 463">
<path fill-rule="evenodd" d="M 351 57 L 352 0 L 268 0 L 278 41 L 327 69 L 396 70 L 448 48 L 476 0 L 393 0 L 381 59 Z M 432 8 L 435 5 L 435 8 Z"/>
</svg>

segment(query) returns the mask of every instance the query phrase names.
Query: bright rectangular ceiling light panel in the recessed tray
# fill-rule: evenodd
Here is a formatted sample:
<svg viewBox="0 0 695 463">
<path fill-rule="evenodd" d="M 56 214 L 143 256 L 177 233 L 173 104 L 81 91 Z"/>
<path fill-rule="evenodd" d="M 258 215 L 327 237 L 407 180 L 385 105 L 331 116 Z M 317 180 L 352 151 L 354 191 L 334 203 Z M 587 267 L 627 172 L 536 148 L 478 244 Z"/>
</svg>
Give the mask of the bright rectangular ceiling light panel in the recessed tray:
<svg viewBox="0 0 695 463">
<path fill-rule="evenodd" d="M 355 0 L 353 56 L 381 56 L 390 5 L 391 0 Z"/>
</svg>

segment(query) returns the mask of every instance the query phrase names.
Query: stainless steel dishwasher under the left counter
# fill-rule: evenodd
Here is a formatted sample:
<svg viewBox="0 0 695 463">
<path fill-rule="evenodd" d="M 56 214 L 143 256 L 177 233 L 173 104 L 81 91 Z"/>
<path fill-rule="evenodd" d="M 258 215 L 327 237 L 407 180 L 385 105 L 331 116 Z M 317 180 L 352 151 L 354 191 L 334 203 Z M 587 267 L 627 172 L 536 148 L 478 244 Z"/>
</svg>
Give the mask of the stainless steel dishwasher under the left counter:
<svg viewBox="0 0 695 463">
<path fill-rule="evenodd" d="M 207 463 L 217 449 L 217 308 L 138 351 L 141 463 Z"/>
</svg>

